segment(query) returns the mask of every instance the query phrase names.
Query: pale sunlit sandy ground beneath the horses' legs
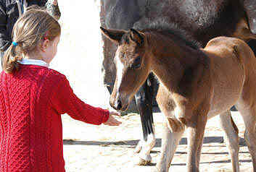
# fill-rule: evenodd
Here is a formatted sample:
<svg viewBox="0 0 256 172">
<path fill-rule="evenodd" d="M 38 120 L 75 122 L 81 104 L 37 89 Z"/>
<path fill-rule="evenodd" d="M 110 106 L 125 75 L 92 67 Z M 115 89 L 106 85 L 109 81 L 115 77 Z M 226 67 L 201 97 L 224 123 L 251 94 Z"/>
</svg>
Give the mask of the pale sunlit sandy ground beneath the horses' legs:
<svg viewBox="0 0 256 172">
<path fill-rule="evenodd" d="M 240 171 L 252 171 L 252 159 L 243 139 L 244 124 L 239 113 L 232 113 L 239 126 Z M 154 146 L 152 165 L 134 165 L 138 154 L 134 147 L 141 138 L 141 123 L 136 113 L 120 117 L 121 126 L 94 126 L 70 119 L 65 115 L 64 156 L 67 171 L 151 171 L 160 155 L 162 137 L 162 113 L 154 113 L 157 144 Z M 173 158 L 170 171 L 186 171 L 186 133 Z M 200 171 L 231 171 L 231 162 L 223 142 L 223 132 L 218 127 L 218 117 L 207 122 L 202 147 Z"/>
</svg>

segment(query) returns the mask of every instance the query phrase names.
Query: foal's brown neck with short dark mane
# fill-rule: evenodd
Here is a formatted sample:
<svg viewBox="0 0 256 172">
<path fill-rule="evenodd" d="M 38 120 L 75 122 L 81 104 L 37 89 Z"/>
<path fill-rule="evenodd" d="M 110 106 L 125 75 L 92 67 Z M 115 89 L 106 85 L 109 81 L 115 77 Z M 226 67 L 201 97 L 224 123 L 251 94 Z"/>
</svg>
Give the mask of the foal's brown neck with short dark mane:
<svg viewBox="0 0 256 172">
<path fill-rule="evenodd" d="M 175 35 L 150 32 L 146 37 L 152 56 L 152 72 L 170 91 L 176 92 L 184 75 L 193 73 L 206 60 L 202 51 L 191 48 Z"/>
</svg>

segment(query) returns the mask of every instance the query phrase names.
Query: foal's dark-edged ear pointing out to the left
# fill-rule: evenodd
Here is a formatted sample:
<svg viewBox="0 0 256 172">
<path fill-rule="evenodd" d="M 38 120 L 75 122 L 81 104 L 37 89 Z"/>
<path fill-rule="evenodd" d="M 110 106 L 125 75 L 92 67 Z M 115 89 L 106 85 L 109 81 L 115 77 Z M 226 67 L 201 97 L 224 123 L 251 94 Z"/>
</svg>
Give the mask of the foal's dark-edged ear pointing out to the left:
<svg viewBox="0 0 256 172">
<path fill-rule="evenodd" d="M 107 30 L 103 27 L 100 27 L 100 29 L 102 34 L 109 38 L 115 44 L 120 43 L 122 36 L 126 33 L 125 30 Z"/>
</svg>

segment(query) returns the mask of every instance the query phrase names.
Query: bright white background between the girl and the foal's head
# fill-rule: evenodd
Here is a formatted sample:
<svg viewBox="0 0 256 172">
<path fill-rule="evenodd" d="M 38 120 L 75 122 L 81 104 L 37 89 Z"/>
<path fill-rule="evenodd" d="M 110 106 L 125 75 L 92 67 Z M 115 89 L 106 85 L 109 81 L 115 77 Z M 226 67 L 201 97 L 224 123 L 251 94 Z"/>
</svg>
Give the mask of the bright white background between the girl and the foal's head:
<svg viewBox="0 0 256 172">
<path fill-rule="evenodd" d="M 74 93 L 92 106 L 109 107 L 101 74 L 103 43 L 99 1 L 58 0 L 62 35 L 50 67 L 65 74 Z"/>
</svg>

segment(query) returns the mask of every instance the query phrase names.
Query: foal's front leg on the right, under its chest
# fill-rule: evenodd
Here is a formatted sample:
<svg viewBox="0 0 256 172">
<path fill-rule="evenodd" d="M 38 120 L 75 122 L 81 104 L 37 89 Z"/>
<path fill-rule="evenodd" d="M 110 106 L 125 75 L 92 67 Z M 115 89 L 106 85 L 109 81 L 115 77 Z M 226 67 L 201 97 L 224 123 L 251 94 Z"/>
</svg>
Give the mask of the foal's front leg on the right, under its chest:
<svg viewBox="0 0 256 172">
<path fill-rule="evenodd" d="M 207 114 L 198 114 L 191 120 L 191 122 L 189 122 L 189 124 L 186 124 L 189 147 L 187 169 L 189 172 L 199 171 L 206 122 Z"/>
</svg>

